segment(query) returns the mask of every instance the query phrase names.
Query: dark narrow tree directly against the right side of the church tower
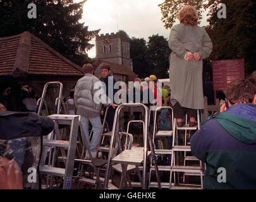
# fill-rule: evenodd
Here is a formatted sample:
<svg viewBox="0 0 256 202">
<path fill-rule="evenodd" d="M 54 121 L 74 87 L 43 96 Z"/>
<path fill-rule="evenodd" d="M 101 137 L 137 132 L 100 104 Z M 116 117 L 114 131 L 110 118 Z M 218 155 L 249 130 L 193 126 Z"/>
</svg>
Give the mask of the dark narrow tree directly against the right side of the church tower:
<svg viewBox="0 0 256 202">
<path fill-rule="evenodd" d="M 147 59 L 147 45 L 144 39 L 133 37 L 130 39 L 130 56 L 133 60 L 133 71 L 138 77 L 149 76 L 149 62 Z"/>
</svg>

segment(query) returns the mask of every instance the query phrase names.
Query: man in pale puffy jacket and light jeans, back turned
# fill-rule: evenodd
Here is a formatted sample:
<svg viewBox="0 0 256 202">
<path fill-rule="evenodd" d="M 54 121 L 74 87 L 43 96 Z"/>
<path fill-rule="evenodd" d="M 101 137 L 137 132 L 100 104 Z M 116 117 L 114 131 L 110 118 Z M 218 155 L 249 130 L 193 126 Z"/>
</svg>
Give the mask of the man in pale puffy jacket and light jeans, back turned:
<svg viewBox="0 0 256 202">
<path fill-rule="evenodd" d="M 92 124 L 92 131 L 94 131 L 94 134 L 92 136 L 92 140 L 90 141 L 90 150 L 92 152 L 92 157 L 95 158 L 97 154 L 97 145 L 101 139 L 102 123 L 100 116 L 102 104 L 111 105 L 112 107 L 114 107 L 114 104 L 110 104 L 104 88 L 99 90 L 98 87 L 102 85 L 102 82 L 93 75 L 93 66 L 91 64 L 84 64 L 83 72 L 85 73 L 85 76 L 80 78 L 75 86 L 74 98 L 75 105 L 77 107 L 76 114 L 81 115 L 81 122 L 83 130 L 85 131 L 85 138 L 87 138 L 88 141 L 89 121 Z M 99 94 L 101 94 L 101 96 L 97 96 Z"/>
</svg>

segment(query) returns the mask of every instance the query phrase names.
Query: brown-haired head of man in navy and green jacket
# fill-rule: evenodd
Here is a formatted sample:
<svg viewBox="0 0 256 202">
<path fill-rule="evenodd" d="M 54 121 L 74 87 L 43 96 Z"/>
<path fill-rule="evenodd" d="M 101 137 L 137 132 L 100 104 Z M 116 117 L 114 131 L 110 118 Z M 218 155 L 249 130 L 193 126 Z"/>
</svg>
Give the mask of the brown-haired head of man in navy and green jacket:
<svg viewBox="0 0 256 202">
<path fill-rule="evenodd" d="M 228 85 L 226 98 L 229 105 L 253 103 L 256 86 L 250 80 L 234 80 Z"/>
</svg>

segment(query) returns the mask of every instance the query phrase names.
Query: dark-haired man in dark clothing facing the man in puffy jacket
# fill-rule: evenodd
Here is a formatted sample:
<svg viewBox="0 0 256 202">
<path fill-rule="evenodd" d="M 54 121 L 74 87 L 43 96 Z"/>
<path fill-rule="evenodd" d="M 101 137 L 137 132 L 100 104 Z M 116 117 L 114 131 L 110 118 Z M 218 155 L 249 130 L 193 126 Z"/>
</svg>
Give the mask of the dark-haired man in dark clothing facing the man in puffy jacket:
<svg viewBox="0 0 256 202">
<path fill-rule="evenodd" d="M 112 103 L 114 103 L 114 94 L 116 93 L 117 89 L 114 89 L 114 84 L 116 83 L 116 80 L 114 80 L 114 77 L 111 76 L 111 69 L 108 64 L 102 64 L 101 66 L 101 78 L 99 78 L 102 82 L 106 85 L 106 94 L 107 97 L 111 100 Z M 109 131 L 112 131 L 113 129 L 113 123 L 114 123 L 114 113 L 115 110 L 113 108 L 109 108 L 107 111 L 107 125 L 109 126 Z"/>
</svg>

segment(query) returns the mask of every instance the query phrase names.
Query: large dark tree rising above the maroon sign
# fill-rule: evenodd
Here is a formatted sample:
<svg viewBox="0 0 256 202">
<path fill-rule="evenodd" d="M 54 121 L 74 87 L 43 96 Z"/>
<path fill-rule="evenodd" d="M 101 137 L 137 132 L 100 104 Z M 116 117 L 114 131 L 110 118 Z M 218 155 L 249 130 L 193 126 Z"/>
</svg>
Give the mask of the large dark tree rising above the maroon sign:
<svg viewBox="0 0 256 202">
<path fill-rule="evenodd" d="M 217 18 L 219 9 L 212 9 L 209 27 L 206 28 L 213 43 L 212 60 L 245 59 L 247 74 L 256 64 L 256 3 L 253 0 L 223 0 L 226 19 Z"/>
</svg>

